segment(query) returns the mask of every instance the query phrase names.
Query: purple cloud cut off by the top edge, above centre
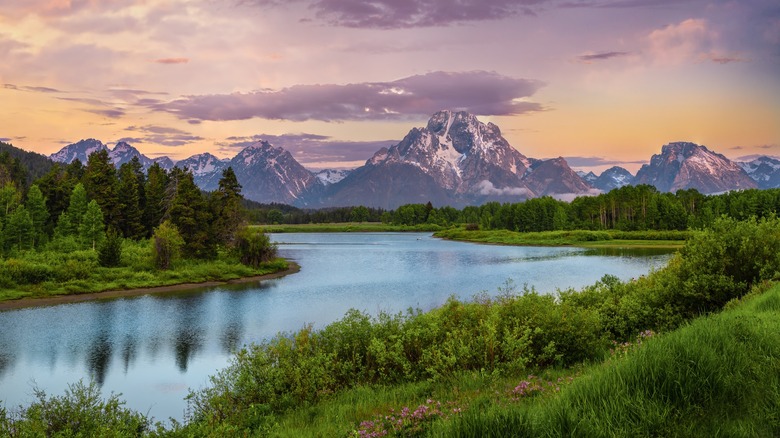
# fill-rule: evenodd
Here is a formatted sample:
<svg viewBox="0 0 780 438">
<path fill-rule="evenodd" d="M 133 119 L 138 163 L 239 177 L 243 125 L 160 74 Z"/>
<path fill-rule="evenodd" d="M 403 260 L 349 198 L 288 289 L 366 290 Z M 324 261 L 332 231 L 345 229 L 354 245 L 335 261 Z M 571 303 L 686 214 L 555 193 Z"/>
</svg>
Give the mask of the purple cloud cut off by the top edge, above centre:
<svg viewBox="0 0 780 438">
<path fill-rule="evenodd" d="M 400 29 L 449 26 L 469 21 L 536 15 L 550 0 L 302 0 L 317 19 L 333 26 Z M 278 0 L 240 0 L 239 4 L 279 6 Z M 305 21 L 309 21 L 305 19 Z"/>
</svg>

